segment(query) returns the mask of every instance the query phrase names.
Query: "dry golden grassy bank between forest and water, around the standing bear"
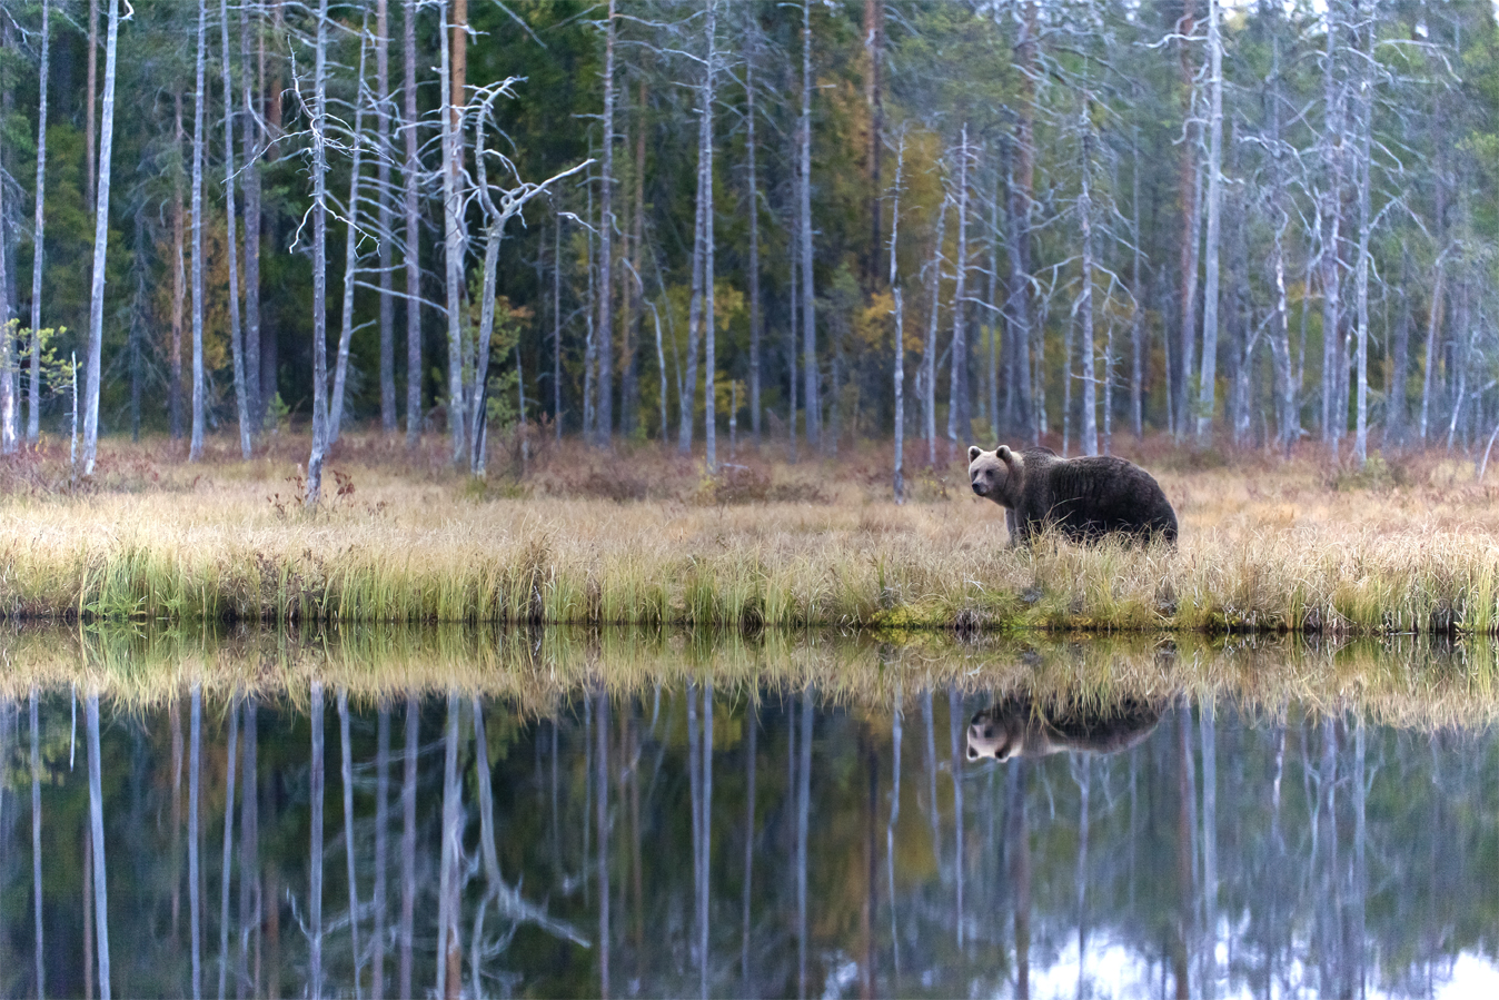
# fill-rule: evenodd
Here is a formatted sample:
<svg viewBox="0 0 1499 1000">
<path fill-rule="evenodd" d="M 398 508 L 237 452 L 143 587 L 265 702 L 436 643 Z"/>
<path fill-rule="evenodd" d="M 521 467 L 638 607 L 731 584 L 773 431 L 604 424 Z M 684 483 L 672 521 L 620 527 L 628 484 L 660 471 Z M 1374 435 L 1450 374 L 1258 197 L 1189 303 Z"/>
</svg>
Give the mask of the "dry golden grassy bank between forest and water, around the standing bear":
<svg viewBox="0 0 1499 1000">
<path fill-rule="evenodd" d="M 1147 451 L 1175 552 L 1006 547 L 961 462 L 889 501 L 883 451 L 717 478 L 655 448 L 547 445 L 475 483 L 442 442 L 340 442 L 298 502 L 301 441 L 187 465 L 106 447 L 12 460 L 0 615 L 49 621 L 513 622 L 645 627 L 1499 633 L 1499 490 L 1466 462 L 1346 469 Z M 496 462 L 495 465 L 502 465 Z M 1205 468 L 1204 468 L 1205 466 Z M 493 466 L 492 466 L 493 468 Z"/>
</svg>

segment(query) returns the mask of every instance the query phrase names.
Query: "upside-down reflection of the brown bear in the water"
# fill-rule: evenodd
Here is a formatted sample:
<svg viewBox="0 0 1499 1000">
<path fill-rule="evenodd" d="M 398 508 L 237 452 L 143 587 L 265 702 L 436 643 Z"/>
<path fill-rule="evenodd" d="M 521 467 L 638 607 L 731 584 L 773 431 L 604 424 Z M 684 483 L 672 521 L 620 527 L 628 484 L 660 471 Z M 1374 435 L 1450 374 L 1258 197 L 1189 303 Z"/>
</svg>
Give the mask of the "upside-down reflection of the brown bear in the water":
<svg viewBox="0 0 1499 1000">
<path fill-rule="evenodd" d="M 1010 697 L 968 723 L 968 760 L 1045 757 L 1063 750 L 1115 754 L 1144 742 L 1159 721 L 1160 709 L 1129 699 L 1048 712 L 1027 697 Z"/>
</svg>

